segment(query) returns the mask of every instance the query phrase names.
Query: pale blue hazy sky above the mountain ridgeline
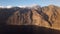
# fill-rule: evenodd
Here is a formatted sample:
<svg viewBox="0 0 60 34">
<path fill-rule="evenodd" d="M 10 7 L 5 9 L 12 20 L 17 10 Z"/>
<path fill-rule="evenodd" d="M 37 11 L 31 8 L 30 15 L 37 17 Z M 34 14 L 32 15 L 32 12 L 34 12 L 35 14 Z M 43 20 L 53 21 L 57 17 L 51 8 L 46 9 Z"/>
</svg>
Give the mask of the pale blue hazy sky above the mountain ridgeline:
<svg viewBox="0 0 60 34">
<path fill-rule="evenodd" d="M 23 6 L 38 4 L 40 6 L 57 5 L 60 6 L 60 0 L 0 0 L 0 6 Z"/>
</svg>

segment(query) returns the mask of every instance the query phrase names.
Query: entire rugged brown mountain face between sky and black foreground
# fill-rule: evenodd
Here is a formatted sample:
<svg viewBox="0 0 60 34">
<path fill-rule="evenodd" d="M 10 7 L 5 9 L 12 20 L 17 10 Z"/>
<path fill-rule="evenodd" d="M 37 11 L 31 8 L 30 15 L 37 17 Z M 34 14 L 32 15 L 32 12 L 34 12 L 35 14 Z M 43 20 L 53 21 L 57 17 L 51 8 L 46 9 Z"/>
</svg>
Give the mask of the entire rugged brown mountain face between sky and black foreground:
<svg viewBox="0 0 60 34">
<path fill-rule="evenodd" d="M 0 8 L 0 25 L 37 25 L 60 29 L 60 7 Z"/>
</svg>

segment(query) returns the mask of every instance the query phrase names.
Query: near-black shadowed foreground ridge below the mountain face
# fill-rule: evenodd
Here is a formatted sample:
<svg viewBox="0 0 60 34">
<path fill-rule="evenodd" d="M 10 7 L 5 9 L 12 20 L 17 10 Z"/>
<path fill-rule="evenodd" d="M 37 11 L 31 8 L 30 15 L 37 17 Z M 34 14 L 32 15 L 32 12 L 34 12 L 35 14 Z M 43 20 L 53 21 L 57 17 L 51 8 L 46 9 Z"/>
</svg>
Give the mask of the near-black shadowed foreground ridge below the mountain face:
<svg viewBox="0 0 60 34">
<path fill-rule="evenodd" d="M 36 25 L 9 25 L 0 28 L 0 34 L 60 34 L 59 30 L 54 30 Z"/>
</svg>

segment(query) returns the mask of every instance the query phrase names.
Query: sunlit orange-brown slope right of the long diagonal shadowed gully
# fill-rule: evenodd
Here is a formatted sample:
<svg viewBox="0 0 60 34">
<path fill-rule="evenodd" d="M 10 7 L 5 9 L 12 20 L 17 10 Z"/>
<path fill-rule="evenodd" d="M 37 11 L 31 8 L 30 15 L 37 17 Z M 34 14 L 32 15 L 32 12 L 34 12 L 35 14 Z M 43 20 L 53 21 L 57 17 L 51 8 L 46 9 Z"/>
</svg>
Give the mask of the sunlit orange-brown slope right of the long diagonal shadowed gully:
<svg viewBox="0 0 60 34">
<path fill-rule="evenodd" d="M 60 7 L 50 5 L 48 7 L 43 7 L 42 11 L 49 17 L 52 28 L 60 29 Z"/>
</svg>

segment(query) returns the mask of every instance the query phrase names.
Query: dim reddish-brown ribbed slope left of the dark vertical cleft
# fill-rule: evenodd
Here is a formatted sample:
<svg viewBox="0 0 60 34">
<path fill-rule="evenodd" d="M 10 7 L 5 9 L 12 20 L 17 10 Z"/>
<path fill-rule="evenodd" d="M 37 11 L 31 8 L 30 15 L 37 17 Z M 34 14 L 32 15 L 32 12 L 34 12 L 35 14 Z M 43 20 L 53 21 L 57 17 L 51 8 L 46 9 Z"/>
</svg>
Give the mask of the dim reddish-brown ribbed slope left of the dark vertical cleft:
<svg viewBox="0 0 60 34">
<path fill-rule="evenodd" d="M 29 9 L 24 9 L 21 8 L 19 10 L 17 10 L 16 12 L 13 13 L 12 16 L 9 17 L 8 19 L 8 24 L 12 24 L 12 25 L 29 25 L 31 24 L 31 10 Z M 11 20 L 11 21 L 10 21 Z"/>
</svg>

